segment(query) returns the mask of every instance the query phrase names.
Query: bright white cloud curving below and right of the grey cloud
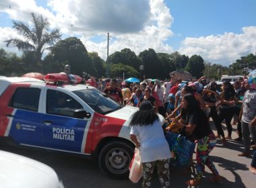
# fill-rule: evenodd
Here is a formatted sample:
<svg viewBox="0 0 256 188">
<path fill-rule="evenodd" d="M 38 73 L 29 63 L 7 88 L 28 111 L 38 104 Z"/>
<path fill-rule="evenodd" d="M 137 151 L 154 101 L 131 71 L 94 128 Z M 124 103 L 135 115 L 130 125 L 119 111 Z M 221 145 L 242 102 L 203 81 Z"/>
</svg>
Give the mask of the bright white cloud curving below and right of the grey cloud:
<svg viewBox="0 0 256 188">
<path fill-rule="evenodd" d="M 113 33 L 110 40 L 109 54 L 120 51 L 123 48 L 130 48 L 136 54 L 153 48 L 156 52 L 173 52 L 172 47 L 164 44 L 164 41 L 172 36 L 170 26 L 173 18 L 170 10 L 164 4 L 163 0 L 150 0 L 150 19 L 142 30 L 136 33 L 117 34 Z M 88 42 L 88 38 L 83 38 L 88 51 L 96 51 L 100 56 L 106 59 L 106 42 L 100 44 Z"/>
</svg>

